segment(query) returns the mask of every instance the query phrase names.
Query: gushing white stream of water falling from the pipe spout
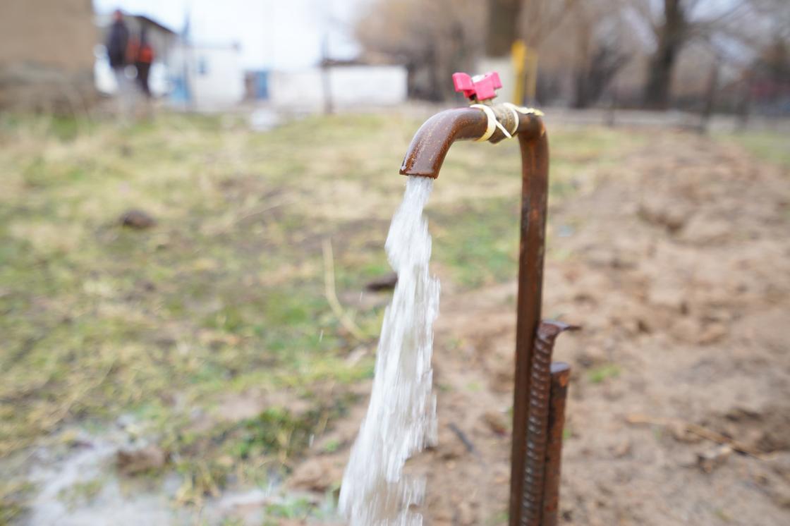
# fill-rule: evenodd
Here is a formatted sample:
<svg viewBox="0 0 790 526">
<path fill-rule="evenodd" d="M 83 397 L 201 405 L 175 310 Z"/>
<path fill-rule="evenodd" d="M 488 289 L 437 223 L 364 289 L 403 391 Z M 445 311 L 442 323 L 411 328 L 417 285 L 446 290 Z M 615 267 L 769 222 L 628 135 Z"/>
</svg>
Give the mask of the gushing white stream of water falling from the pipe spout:
<svg viewBox="0 0 790 526">
<path fill-rule="evenodd" d="M 367 416 L 359 429 L 340 488 L 340 511 L 350 526 L 418 526 L 425 480 L 403 473 L 406 460 L 437 441 L 431 393 L 433 323 L 439 283 L 428 273 L 431 235 L 423 208 L 433 179 L 409 177 L 387 235 L 397 287 L 378 341 Z"/>
</svg>

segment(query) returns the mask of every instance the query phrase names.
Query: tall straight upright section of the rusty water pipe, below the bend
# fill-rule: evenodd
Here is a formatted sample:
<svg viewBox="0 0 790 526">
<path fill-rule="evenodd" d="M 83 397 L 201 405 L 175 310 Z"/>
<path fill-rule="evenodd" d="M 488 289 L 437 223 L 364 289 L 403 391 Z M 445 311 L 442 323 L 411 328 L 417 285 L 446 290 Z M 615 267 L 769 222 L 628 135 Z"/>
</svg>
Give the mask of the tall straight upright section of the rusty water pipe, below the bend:
<svg viewBox="0 0 790 526">
<path fill-rule="evenodd" d="M 544 246 L 548 195 L 548 141 L 543 125 L 536 137 L 519 135 L 521 146 L 521 241 L 516 321 L 516 385 L 510 472 L 510 526 L 525 523 L 525 455 L 533 345 L 543 299 Z"/>
</svg>

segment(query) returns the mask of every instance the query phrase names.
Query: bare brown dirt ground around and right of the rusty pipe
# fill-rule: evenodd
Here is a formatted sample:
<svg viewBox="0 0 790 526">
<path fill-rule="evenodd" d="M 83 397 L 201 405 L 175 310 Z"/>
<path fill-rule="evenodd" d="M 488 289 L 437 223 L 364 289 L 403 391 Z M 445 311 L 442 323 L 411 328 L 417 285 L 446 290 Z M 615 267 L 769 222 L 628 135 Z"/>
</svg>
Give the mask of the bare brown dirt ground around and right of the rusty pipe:
<svg viewBox="0 0 790 526">
<path fill-rule="evenodd" d="M 555 349 L 573 368 L 562 524 L 790 524 L 788 171 L 667 132 L 595 178 L 550 203 L 544 317 L 584 328 Z M 506 522 L 515 294 L 442 291 L 440 441 L 410 462 L 427 524 Z M 340 479 L 364 408 L 291 487 Z"/>
</svg>

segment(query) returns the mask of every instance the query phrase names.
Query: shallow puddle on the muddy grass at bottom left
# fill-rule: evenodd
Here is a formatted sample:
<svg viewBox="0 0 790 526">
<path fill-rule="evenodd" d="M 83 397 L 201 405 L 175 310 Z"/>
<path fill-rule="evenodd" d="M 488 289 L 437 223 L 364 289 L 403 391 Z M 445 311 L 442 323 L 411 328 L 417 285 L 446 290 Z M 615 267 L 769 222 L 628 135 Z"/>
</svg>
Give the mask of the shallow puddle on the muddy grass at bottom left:
<svg viewBox="0 0 790 526">
<path fill-rule="evenodd" d="M 129 447 L 128 437 L 114 429 L 100 436 L 81 435 L 77 447 L 38 448 L 4 472 L 17 472 L 33 483 L 35 490 L 26 503 L 27 511 L 16 524 L 24 526 L 220 526 L 232 518 L 233 524 L 264 524 L 267 509 L 287 507 L 303 498 L 280 491 L 280 482 L 270 487 L 240 487 L 218 498 L 207 498 L 200 509 L 178 505 L 175 494 L 181 476 L 175 472 L 160 479 L 119 476 L 115 459 L 119 449 Z M 314 497 L 309 496 L 310 502 Z M 322 517 L 334 517 L 333 502 L 317 503 Z M 276 520 L 276 519 L 274 519 Z M 318 523 L 310 523 L 318 524 Z"/>
</svg>

